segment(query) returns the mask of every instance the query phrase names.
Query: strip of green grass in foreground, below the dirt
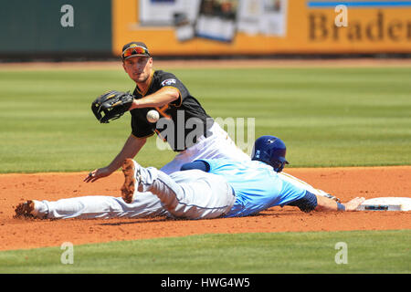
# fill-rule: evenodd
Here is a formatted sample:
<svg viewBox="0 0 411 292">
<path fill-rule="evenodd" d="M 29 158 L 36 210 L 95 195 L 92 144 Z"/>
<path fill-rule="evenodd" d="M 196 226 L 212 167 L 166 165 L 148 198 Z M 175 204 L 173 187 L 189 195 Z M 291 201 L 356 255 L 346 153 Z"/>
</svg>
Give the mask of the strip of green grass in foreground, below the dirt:
<svg viewBox="0 0 411 292">
<path fill-rule="evenodd" d="M 409 230 L 192 235 L 75 245 L 68 265 L 59 247 L 5 251 L 0 273 L 410 273 L 410 246 Z"/>
</svg>

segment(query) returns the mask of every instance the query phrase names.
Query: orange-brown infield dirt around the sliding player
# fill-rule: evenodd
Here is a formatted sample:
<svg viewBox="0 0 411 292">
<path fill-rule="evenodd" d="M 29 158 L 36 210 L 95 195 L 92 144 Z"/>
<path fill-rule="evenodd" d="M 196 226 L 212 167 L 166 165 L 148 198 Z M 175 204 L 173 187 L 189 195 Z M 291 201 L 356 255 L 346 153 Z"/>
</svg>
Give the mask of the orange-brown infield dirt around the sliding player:
<svg viewBox="0 0 411 292">
<path fill-rule="evenodd" d="M 411 166 L 288 169 L 292 175 L 337 195 L 411 197 Z M 259 215 L 212 220 L 151 219 L 33 220 L 13 218 L 27 199 L 58 200 L 80 195 L 120 195 L 121 172 L 96 183 L 83 183 L 86 172 L 0 175 L 0 250 L 74 245 L 153 237 L 339 230 L 411 229 L 411 212 L 304 214 L 273 207 Z"/>
</svg>

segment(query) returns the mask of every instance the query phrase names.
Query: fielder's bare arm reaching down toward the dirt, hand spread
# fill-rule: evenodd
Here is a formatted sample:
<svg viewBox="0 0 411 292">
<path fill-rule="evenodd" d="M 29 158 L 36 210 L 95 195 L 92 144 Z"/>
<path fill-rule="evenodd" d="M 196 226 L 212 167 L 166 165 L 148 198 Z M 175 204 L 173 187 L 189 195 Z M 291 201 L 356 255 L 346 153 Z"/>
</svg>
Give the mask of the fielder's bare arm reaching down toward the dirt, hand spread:
<svg viewBox="0 0 411 292">
<path fill-rule="evenodd" d="M 145 138 L 136 138 L 130 135 L 127 141 L 124 143 L 120 153 L 114 158 L 114 160 L 106 167 L 99 168 L 89 173 L 84 179 L 86 183 L 93 183 L 102 177 L 111 175 L 112 172 L 117 171 L 122 162 L 127 158 L 133 158 L 142 149 L 146 142 Z"/>
</svg>

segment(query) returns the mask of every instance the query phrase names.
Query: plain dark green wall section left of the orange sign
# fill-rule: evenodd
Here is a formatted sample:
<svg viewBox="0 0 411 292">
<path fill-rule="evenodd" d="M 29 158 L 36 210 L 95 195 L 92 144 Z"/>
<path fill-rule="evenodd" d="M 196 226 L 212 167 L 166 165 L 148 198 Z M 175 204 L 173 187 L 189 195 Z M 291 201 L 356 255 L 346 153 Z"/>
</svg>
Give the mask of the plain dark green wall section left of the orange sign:
<svg viewBox="0 0 411 292">
<path fill-rule="evenodd" d="M 111 54 L 111 0 L 0 1 L 0 54 Z"/>
</svg>

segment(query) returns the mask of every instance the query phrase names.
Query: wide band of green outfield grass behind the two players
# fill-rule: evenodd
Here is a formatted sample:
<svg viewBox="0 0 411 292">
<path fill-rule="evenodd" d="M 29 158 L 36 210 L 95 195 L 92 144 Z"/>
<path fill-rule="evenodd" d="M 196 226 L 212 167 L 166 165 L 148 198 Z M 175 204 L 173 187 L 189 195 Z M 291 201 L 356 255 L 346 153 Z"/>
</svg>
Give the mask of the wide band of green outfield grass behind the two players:
<svg viewBox="0 0 411 292">
<path fill-rule="evenodd" d="M 214 118 L 255 118 L 255 137 L 286 141 L 290 167 L 411 164 L 411 68 L 173 71 Z M 100 124 L 90 110 L 106 89 L 133 89 L 120 68 L 0 70 L 0 88 L 0 172 L 89 171 L 131 132 L 129 114 Z M 148 146 L 143 165 L 174 157 Z"/>
</svg>

